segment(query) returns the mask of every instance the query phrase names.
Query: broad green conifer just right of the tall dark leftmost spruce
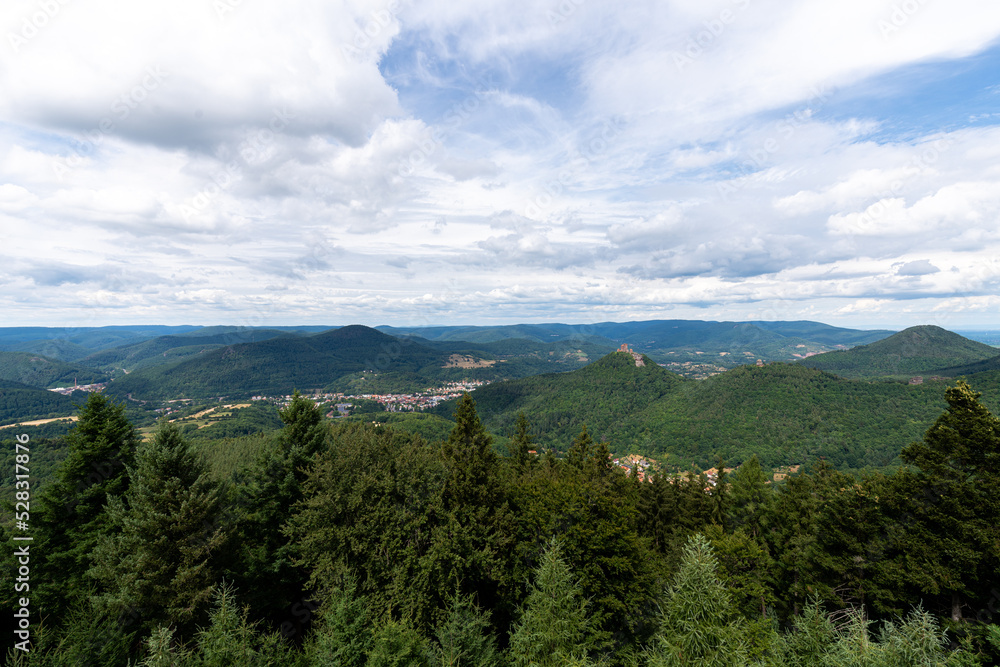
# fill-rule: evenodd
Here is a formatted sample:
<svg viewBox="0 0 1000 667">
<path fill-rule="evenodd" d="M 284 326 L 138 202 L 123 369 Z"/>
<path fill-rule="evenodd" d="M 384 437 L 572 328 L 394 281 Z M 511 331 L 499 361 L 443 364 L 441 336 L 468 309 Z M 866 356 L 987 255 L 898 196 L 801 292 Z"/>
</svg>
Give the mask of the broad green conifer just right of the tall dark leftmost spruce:
<svg viewBox="0 0 1000 667">
<path fill-rule="evenodd" d="M 173 424 L 161 424 L 136 459 L 125 497 L 108 501 L 115 534 L 94 552 L 88 574 L 106 591 L 95 601 L 183 635 L 212 597 L 212 556 L 226 540 L 221 490 Z"/>
</svg>

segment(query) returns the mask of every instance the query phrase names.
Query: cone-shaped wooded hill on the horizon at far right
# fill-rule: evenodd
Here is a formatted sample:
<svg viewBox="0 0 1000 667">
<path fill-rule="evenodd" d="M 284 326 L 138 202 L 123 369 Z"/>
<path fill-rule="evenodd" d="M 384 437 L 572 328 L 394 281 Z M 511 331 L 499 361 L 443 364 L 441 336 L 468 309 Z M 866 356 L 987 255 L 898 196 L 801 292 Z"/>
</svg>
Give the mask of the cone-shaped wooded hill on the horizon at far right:
<svg viewBox="0 0 1000 667">
<path fill-rule="evenodd" d="M 910 327 L 883 340 L 850 350 L 819 354 L 799 363 L 845 378 L 905 378 L 944 375 L 939 370 L 966 366 L 995 356 L 996 348 L 938 326 L 925 325 Z"/>
</svg>

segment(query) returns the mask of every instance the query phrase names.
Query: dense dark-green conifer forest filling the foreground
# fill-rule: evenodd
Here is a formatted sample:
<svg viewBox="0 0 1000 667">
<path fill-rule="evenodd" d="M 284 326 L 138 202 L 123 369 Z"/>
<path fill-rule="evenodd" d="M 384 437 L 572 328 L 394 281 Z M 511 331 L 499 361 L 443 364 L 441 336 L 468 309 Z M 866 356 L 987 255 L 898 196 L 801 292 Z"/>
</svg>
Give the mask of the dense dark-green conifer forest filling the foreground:
<svg viewBox="0 0 1000 667">
<path fill-rule="evenodd" d="M 523 416 L 499 456 L 468 395 L 437 442 L 296 396 L 220 478 L 92 394 L 3 591 L 32 614 L 7 661 L 995 665 L 1000 421 L 946 399 L 897 473 L 770 484 L 753 457 L 713 485 L 626 476 L 586 428 L 535 456 Z"/>
</svg>

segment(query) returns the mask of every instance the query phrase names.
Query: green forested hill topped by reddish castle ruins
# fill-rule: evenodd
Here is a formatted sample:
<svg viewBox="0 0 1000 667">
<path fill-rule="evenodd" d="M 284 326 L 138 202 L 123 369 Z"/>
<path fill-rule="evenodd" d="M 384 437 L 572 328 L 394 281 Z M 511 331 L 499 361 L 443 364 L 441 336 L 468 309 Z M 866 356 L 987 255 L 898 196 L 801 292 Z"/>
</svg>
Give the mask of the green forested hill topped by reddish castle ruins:
<svg viewBox="0 0 1000 667">
<path fill-rule="evenodd" d="M 893 464 L 943 409 L 946 383 L 846 380 L 796 364 L 741 366 L 707 380 L 683 380 L 614 353 L 555 375 L 494 383 L 473 393 L 484 423 L 512 433 L 519 412 L 544 447 L 565 450 L 584 424 L 615 452 L 669 455 L 707 467 L 756 453 L 769 466 L 825 458 L 839 468 Z M 990 407 L 995 382 L 978 387 Z M 450 406 L 442 406 L 442 412 Z"/>
</svg>

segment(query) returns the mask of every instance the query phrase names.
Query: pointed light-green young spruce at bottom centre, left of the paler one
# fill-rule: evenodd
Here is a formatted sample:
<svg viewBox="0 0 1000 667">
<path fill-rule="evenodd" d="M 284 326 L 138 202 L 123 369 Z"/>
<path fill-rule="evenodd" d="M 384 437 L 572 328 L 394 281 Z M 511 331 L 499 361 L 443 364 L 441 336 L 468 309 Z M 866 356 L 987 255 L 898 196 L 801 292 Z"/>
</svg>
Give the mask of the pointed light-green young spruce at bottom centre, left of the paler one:
<svg viewBox="0 0 1000 667">
<path fill-rule="evenodd" d="M 586 655 L 588 630 L 587 601 L 553 539 L 511 634 L 511 661 L 515 667 L 561 667 Z"/>
</svg>

